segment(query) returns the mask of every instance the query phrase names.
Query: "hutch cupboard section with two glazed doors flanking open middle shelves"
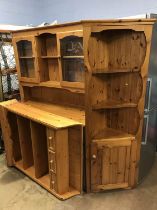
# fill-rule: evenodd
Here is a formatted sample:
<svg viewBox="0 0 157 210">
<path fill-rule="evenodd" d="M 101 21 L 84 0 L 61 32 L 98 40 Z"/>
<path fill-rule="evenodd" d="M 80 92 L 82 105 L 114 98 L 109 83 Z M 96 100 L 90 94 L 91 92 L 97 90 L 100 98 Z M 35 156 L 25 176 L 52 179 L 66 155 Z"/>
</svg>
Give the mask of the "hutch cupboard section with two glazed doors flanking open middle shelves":
<svg viewBox="0 0 157 210">
<path fill-rule="evenodd" d="M 15 39 L 20 80 L 58 83 L 63 88 L 84 89 L 82 31 L 42 33 Z M 52 85 L 53 86 L 53 85 Z"/>
</svg>

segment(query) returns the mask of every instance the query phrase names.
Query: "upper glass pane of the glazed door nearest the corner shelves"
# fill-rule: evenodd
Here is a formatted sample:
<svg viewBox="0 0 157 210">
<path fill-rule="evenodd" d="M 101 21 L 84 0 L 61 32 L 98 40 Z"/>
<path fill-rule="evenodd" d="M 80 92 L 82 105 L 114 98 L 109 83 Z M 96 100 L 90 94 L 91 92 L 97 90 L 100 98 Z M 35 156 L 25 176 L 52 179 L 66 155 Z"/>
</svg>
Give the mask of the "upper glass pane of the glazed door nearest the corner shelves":
<svg viewBox="0 0 157 210">
<path fill-rule="evenodd" d="M 69 36 L 61 40 L 62 56 L 83 55 L 83 38 Z"/>
</svg>

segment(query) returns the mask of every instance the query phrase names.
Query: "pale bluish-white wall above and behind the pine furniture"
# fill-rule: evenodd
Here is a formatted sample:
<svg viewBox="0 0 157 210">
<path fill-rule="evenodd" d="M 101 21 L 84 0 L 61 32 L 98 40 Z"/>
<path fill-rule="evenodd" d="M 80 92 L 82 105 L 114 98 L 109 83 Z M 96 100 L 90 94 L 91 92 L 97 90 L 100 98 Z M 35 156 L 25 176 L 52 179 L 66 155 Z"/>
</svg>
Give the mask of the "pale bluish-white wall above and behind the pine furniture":
<svg viewBox="0 0 157 210">
<path fill-rule="evenodd" d="M 40 24 L 157 13 L 156 0 L 0 0 L 0 23 Z"/>
</svg>

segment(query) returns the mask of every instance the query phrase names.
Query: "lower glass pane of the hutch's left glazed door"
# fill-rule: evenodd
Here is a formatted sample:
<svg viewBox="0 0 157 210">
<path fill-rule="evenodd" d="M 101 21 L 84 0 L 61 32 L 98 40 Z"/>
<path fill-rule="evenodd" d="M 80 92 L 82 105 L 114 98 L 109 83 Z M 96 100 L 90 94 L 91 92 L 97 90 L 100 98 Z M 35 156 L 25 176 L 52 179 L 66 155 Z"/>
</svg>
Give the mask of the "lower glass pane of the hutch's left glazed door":
<svg viewBox="0 0 157 210">
<path fill-rule="evenodd" d="M 21 77 L 35 77 L 34 59 L 20 59 Z"/>
</svg>

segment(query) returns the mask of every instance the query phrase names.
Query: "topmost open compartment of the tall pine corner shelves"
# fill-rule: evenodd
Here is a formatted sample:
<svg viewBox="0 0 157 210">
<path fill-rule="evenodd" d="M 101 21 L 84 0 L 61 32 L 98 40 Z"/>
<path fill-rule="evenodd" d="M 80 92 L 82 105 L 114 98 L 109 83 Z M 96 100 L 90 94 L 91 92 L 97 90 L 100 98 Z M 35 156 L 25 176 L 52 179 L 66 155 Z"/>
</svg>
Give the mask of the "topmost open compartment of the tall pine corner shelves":
<svg viewBox="0 0 157 210">
<path fill-rule="evenodd" d="M 130 29 L 92 33 L 89 39 L 89 63 L 93 74 L 140 71 L 146 54 L 143 32 Z"/>
</svg>

